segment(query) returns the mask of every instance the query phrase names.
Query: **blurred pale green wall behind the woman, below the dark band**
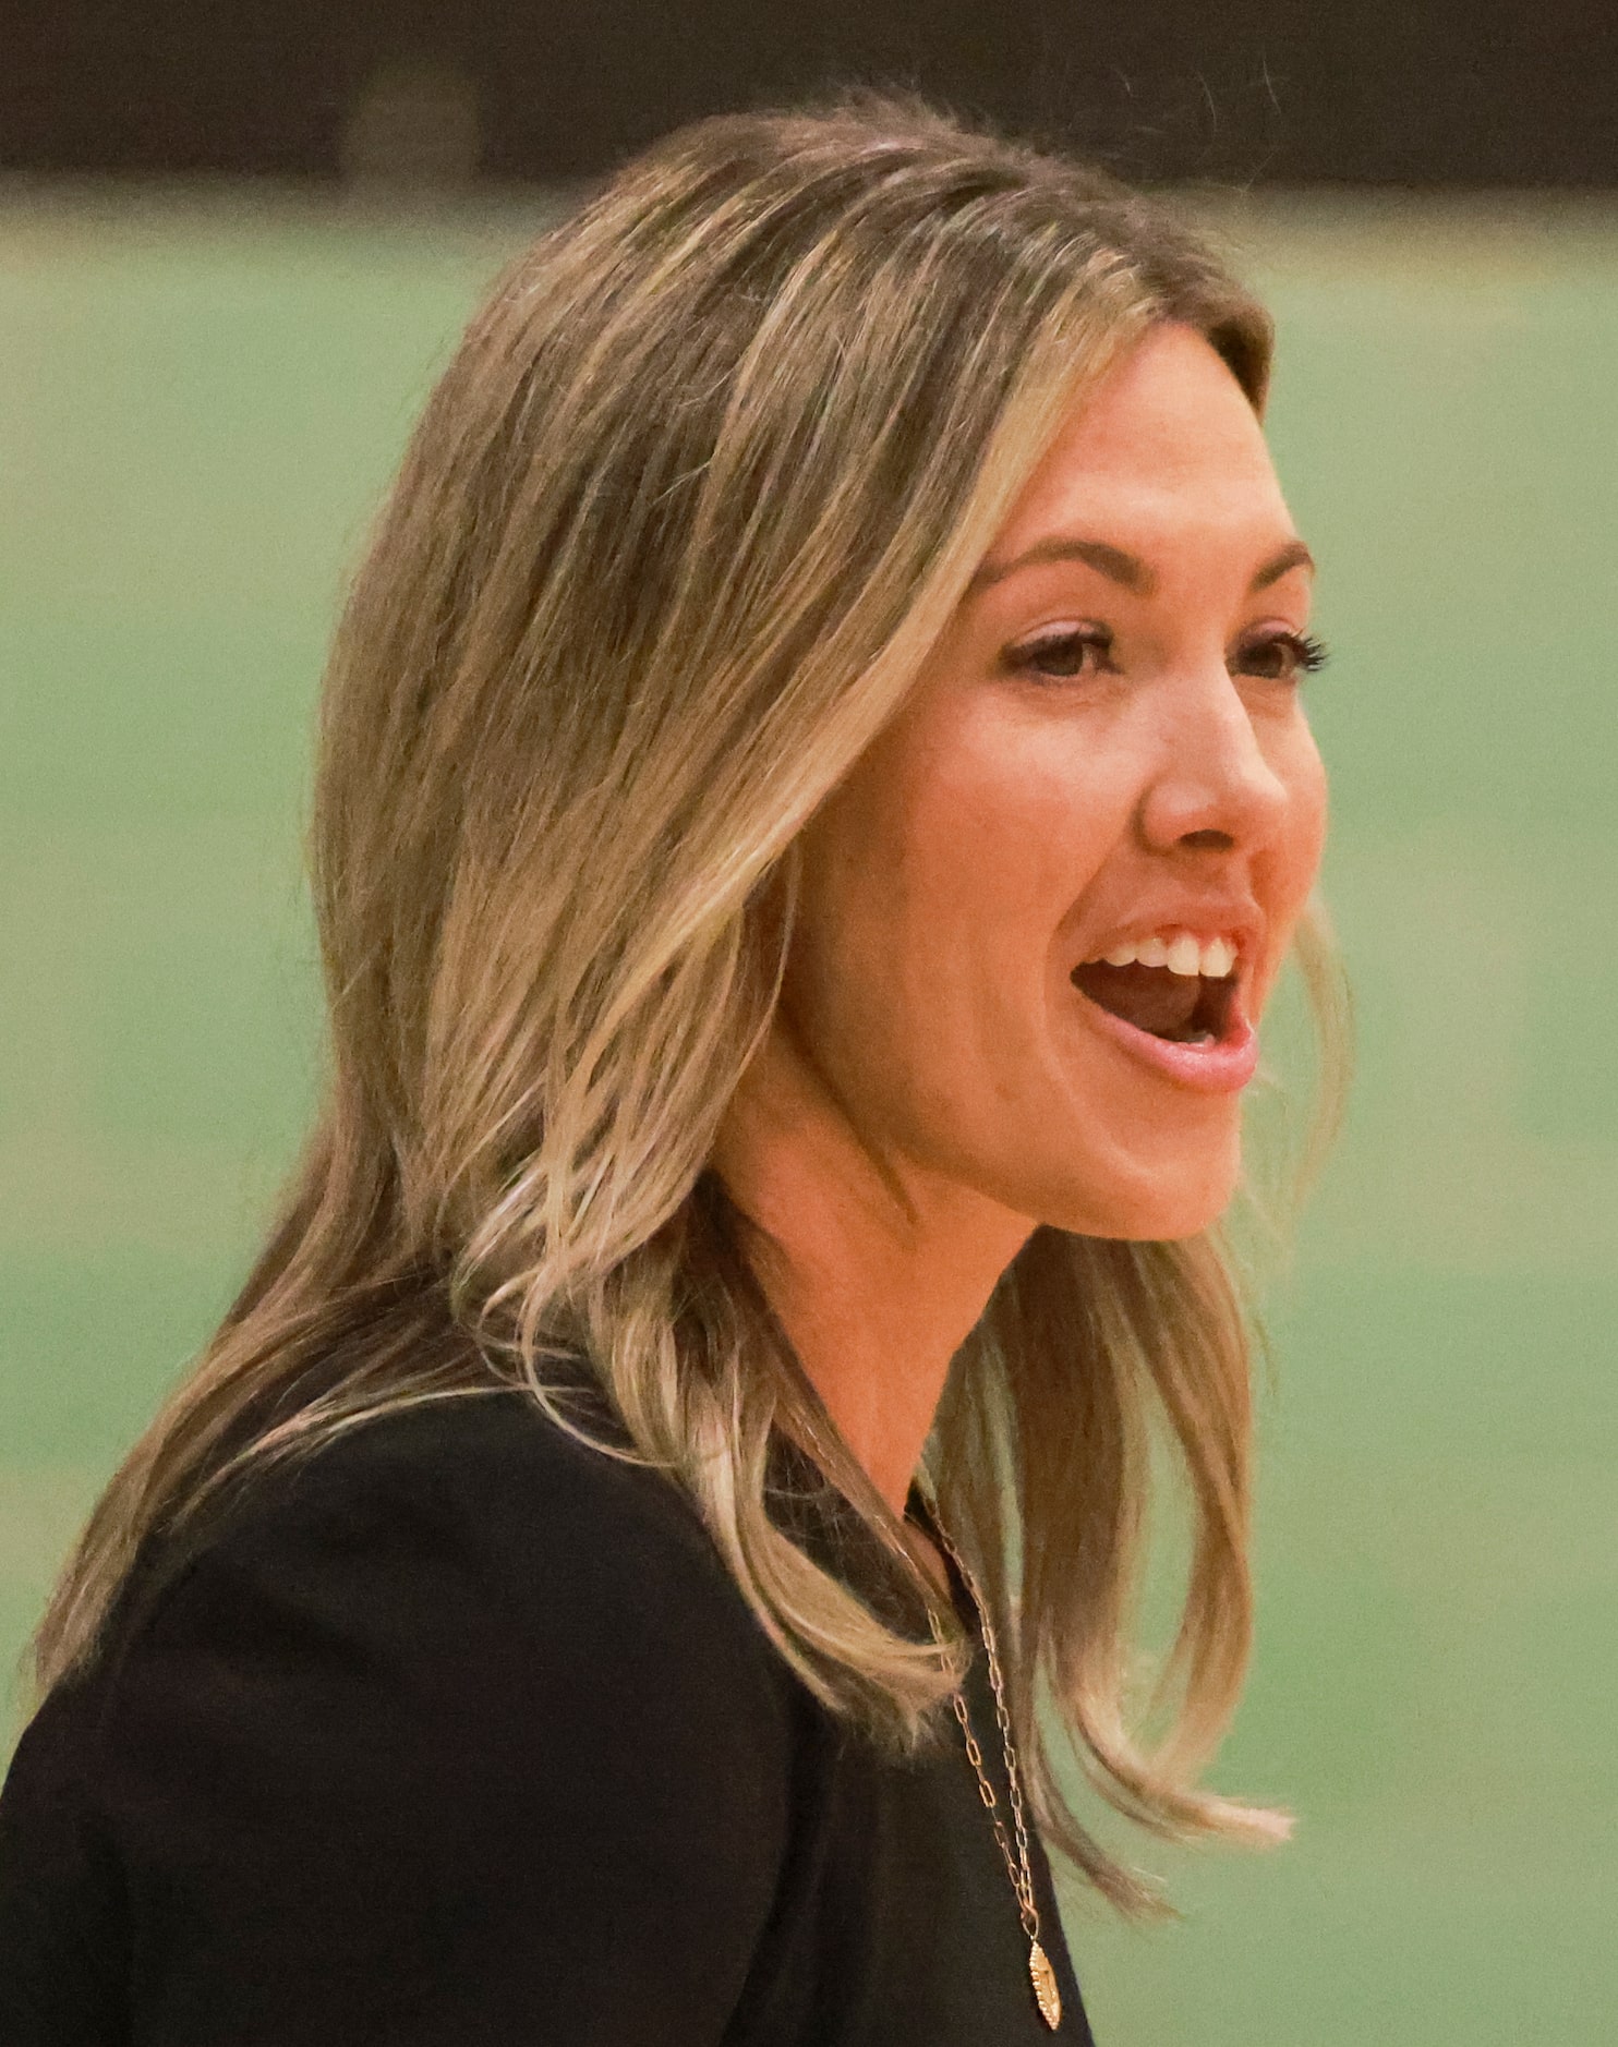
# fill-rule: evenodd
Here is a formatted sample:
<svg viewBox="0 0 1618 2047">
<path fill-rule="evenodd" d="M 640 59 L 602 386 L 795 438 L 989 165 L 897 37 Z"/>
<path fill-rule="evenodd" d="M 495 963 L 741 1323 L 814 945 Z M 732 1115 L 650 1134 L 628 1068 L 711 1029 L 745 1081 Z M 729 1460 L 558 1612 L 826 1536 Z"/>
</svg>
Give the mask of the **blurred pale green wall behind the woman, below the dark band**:
<svg viewBox="0 0 1618 2047">
<path fill-rule="evenodd" d="M 0 203 L 0 1658 L 225 1304 L 317 1064 L 344 565 L 520 213 Z M 1071 1932 L 1104 2047 L 1618 2037 L 1618 217 L 1235 219 L 1337 659 L 1344 1142 L 1274 1304 L 1270 1857 Z"/>
</svg>

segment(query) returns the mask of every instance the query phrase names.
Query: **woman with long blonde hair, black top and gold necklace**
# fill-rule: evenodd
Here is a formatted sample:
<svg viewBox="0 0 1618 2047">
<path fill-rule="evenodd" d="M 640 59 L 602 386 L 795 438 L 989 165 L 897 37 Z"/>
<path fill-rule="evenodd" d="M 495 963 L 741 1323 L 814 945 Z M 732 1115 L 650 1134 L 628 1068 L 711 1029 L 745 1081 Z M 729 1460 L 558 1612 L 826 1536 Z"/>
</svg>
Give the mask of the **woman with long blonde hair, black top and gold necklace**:
<svg viewBox="0 0 1618 2047">
<path fill-rule="evenodd" d="M 500 285 L 328 678 L 326 1109 L 39 1636 L 6 2041 L 1085 2041 L 1045 1844 L 1151 1893 L 1061 1746 L 1284 1834 L 1192 1781 L 1323 829 L 1268 350 L 1155 207 L 881 102 Z"/>
</svg>

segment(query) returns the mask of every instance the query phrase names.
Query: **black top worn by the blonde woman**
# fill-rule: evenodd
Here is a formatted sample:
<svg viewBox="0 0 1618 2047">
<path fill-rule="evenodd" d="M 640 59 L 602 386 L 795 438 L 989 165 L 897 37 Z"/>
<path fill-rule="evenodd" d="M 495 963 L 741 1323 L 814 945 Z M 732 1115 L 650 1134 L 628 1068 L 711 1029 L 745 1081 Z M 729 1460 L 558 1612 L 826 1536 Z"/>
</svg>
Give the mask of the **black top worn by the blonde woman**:
<svg viewBox="0 0 1618 2047">
<path fill-rule="evenodd" d="M 1004 1799 L 981 1654 L 967 1699 Z M 137 1578 L 0 1797 L 0 2041 L 1051 2035 L 959 1728 L 881 1758 L 676 1486 L 496 1394 L 356 1429 Z"/>
</svg>

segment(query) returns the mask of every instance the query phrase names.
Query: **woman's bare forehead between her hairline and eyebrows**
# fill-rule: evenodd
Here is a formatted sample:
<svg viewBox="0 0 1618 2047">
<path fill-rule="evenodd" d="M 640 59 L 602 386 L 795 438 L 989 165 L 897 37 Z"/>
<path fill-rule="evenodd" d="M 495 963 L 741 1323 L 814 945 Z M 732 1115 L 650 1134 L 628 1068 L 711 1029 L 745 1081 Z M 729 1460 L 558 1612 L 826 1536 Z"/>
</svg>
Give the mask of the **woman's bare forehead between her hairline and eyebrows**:
<svg viewBox="0 0 1618 2047">
<path fill-rule="evenodd" d="M 1260 538 L 1290 530 L 1253 407 L 1190 328 L 1155 328 L 1085 393 L 991 553 L 1004 559 L 1061 530 L 1112 538 L 1098 530 L 1102 520 Z"/>
</svg>

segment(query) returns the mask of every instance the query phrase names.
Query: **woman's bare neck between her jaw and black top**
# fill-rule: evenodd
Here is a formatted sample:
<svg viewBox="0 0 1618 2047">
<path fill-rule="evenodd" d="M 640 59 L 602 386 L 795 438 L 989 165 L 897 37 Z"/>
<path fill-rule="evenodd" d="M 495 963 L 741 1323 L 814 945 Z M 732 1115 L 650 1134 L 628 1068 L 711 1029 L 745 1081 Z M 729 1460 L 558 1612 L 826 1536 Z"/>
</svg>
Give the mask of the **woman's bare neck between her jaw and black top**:
<svg viewBox="0 0 1618 2047">
<path fill-rule="evenodd" d="M 901 1515 L 950 1359 L 1030 1222 L 877 1159 L 776 1036 L 737 1089 L 713 1163 L 770 1238 L 760 1281 L 805 1374 Z"/>
</svg>

